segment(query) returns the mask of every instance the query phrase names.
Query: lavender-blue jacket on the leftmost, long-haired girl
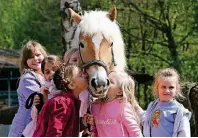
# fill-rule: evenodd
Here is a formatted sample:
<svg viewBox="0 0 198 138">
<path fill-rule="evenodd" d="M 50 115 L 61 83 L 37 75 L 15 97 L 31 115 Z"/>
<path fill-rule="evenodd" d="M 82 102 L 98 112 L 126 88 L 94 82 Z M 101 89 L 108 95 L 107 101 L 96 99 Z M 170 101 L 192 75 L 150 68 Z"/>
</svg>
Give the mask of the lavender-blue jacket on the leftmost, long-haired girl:
<svg viewBox="0 0 198 138">
<path fill-rule="evenodd" d="M 33 92 L 41 92 L 41 85 L 41 81 L 34 71 L 25 70 L 17 89 L 19 109 L 12 121 L 9 137 L 20 137 L 26 125 L 32 120 L 31 109 L 25 108 L 25 102 Z"/>
</svg>

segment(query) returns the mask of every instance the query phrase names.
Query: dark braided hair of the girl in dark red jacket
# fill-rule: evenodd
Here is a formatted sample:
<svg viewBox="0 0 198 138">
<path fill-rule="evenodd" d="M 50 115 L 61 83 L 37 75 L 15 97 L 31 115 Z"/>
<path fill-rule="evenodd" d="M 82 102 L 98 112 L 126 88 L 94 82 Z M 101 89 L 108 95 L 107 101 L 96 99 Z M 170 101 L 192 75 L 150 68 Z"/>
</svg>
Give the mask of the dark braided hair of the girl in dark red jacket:
<svg viewBox="0 0 198 138">
<path fill-rule="evenodd" d="M 65 63 L 61 64 L 58 70 L 54 73 L 53 81 L 56 89 L 62 90 L 64 92 L 71 92 L 72 90 L 68 85 L 73 81 L 74 69 L 78 68 L 76 65 L 68 65 Z"/>
</svg>

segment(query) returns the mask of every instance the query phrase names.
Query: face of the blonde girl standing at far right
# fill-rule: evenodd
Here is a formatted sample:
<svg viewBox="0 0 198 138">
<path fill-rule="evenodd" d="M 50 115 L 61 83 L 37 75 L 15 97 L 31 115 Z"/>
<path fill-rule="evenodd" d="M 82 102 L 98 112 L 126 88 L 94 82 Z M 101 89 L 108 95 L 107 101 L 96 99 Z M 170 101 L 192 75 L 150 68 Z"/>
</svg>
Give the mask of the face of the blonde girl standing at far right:
<svg viewBox="0 0 198 138">
<path fill-rule="evenodd" d="M 162 102 L 173 100 L 177 91 L 176 77 L 167 77 L 161 79 L 158 85 L 159 99 Z"/>
</svg>

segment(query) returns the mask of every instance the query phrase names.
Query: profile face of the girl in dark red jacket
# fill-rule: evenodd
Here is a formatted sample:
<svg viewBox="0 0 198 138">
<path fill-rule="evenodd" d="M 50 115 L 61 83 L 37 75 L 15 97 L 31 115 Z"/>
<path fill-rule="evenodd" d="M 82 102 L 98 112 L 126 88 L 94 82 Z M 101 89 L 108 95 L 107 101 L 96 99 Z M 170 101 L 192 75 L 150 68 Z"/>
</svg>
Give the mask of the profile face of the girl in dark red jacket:
<svg viewBox="0 0 198 138">
<path fill-rule="evenodd" d="M 88 87 L 88 80 L 87 80 L 87 75 L 84 74 L 80 68 L 75 68 L 73 70 L 73 91 L 80 93 L 83 90 L 85 90 Z"/>
</svg>

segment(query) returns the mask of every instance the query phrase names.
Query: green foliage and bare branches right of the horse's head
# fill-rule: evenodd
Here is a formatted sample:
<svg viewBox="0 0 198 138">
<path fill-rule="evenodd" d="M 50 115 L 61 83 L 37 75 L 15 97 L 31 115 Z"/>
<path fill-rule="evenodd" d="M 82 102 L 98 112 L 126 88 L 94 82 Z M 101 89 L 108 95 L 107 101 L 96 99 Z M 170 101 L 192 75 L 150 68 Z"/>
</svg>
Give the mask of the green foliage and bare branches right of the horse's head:
<svg viewBox="0 0 198 138">
<path fill-rule="evenodd" d="M 82 9 L 117 6 L 129 68 L 153 75 L 174 67 L 183 81 L 197 81 L 198 47 L 195 0 L 86 0 Z"/>
</svg>

